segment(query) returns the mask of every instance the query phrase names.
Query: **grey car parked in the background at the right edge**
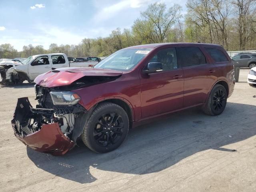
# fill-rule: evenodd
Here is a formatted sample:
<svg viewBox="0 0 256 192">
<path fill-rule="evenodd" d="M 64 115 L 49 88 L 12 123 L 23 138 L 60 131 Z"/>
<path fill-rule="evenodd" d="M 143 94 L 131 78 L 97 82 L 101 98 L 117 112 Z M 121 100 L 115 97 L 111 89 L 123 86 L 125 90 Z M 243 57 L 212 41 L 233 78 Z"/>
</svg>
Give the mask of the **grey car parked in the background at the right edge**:
<svg viewBox="0 0 256 192">
<path fill-rule="evenodd" d="M 234 61 L 235 67 L 256 67 L 256 53 L 238 54 L 231 58 Z"/>
</svg>

